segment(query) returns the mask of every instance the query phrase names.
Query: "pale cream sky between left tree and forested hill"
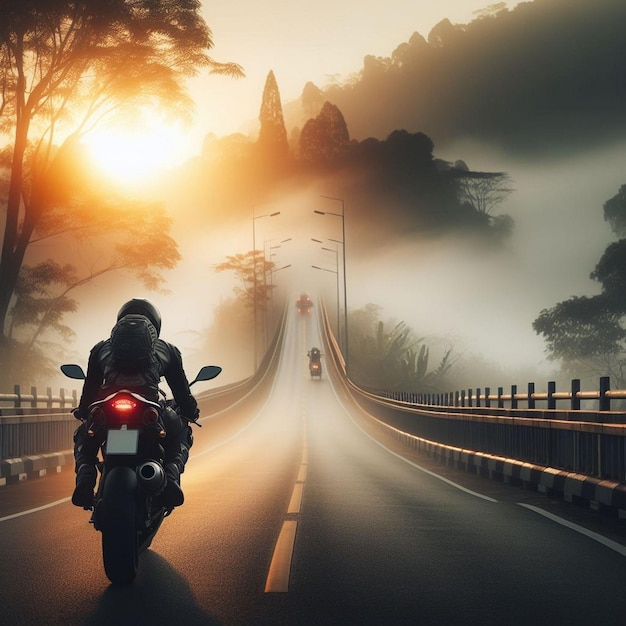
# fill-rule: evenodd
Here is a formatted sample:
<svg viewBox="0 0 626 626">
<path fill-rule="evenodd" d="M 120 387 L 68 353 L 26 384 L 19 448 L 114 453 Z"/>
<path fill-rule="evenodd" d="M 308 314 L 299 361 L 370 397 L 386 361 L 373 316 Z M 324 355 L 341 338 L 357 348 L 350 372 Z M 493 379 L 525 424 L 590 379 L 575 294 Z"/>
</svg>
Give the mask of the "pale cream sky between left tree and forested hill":
<svg viewBox="0 0 626 626">
<path fill-rule="evenodd" d="M 238 132 L 256 120 L 265 79 L 274 72 L 283 104 L 312 81 L 323 87 L 363 67 L 367 55 L 389 57 L 414 32 L 424 37 L 442 19 L 466 24 L 488 0 L 213 0 L 203 15 L 213 32 L 211 55 L 243 66 L 246 77 L 201 76 L 191 82 L 197 110 L 189 144 Z M 508 2 L 513 8 L 517 2 Z"/>
</svg>

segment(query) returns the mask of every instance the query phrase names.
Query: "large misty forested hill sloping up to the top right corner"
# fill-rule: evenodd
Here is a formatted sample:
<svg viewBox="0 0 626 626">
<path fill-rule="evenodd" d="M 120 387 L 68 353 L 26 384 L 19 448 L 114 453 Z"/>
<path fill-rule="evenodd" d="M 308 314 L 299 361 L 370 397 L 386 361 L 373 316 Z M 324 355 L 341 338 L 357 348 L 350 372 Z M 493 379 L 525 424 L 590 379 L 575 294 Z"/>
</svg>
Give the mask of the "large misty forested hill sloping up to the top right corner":
<svg viewBox="0 0 626 626">
<path fill-rule="evenodd" d="M 390 57 L 365 57 L 345 84 L 307 85 L 286 118 L 300 125 L 328 100 L 359 139 L 404 128 L 438 146 L 472 138 L 527 155 L 588 149 L 626 135 L 625 25 L 623 0 L 491 5 L 469 24 L 446 19 L 414 33 Z"/>
</svg>

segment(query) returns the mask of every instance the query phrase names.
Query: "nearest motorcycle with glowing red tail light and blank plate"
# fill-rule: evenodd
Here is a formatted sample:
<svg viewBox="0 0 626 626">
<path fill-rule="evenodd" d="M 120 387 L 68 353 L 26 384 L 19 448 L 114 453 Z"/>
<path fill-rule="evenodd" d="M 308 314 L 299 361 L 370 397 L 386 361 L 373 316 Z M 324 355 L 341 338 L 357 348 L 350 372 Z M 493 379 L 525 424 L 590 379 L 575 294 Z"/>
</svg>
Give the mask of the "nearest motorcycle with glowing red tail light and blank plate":
<svg viewBox="0 0 626 626">
<path fill-rule="evenodd" d="M 62 365 L 61 371 L 68 378 L 85 379 L 80 365 Z M 212 380 L 221 371 L 221 367 L 206 365 L 190 386 Z M 159 391 L 158 402 L 119 389 L 89 406 L 88 434 L 103 441 L 100 480 L 89 521 L 102 533 L 104 570 L 115 584 L 134 580 L 139 554 L 150 546 L 173 510 L 161 504 L 158 496 L 167 482 L 163 414 L 175 409 L 173 400 Z"/>
</svg>

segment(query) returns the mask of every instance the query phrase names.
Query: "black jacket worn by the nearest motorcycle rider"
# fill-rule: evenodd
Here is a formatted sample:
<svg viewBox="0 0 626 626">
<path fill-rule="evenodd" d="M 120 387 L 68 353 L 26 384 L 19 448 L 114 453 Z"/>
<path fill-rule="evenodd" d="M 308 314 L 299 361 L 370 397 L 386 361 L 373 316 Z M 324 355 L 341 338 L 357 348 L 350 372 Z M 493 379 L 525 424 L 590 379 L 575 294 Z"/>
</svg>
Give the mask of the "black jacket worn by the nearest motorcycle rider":
<svg viewBox="0 0 626 626">
<path fill-rule="evenodd" d="M 197 419 L 198 404 L 191 395 L 180 350 L 174 344 L 157 339 L 155 352 L 154 368 L 143 372 L 143 384 L 140 385 L 140 389 L 136 390 L 144 393 L 150 400 L 157 401 L 159 399 L 158 384 L 163 377 L 172 390 L 174 401 L 180 407 L 181 415 L 188 419 Z M 85 419 L 89 414 L 89 405 L 106 397 L 114 389 L 124 387 L 133 391 L 135 390 L 133 387 L 139 387 L 132 377 L 125 379 L 123 375 L 120 376 L 119 372 L 114 371 L 110 367 L 110 360 L 111 344 L 108 339 L 98 342 L 91 349 L 87 363 L 87 377 L 76 411 L 77 417 Z"/>
</svg>

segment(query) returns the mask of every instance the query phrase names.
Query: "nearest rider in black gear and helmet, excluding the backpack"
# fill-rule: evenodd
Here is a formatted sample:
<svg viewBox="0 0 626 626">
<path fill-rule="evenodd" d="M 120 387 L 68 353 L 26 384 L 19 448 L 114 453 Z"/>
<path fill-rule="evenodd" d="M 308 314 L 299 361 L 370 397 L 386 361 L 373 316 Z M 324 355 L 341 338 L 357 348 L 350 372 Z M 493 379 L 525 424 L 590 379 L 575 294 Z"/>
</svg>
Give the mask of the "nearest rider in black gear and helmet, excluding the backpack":
<svg viewBox="0 0 626 626">
<path fill-rule="evenodd" d="M 132 314 L 147 317 L 156 329 L 158 337 L 161 331 L 161 314 L 154 304 L 143 298 L 133 298 L 122 305 L 117 314 L 117 320 Z M 184 416 L 184 419 L 181 419 L 174 411 L 165 411 L 163 416 L 167 433 L 164 442 L 164 469 L 167 483 L 160 498 L 165 506 L 174 507 L 180 506 L 184 501 L 180 488 L 180 475 L 185 469 L 189 458 L 189 448 L 193 444 L 189 421 L 195 422 L 199 411 L 189 389 L 179 349 L 157 338 L 155 354 L 156 359 L 151 370 L 143 372 L 147 382 L 142 391 L 148 399 L 157 401 L 159 399 L 158 383 L 161 377 L 164 377 L 180 409 L 180 415 Z M 89 354 L 87 375 L 80 402 L 78 408 L 74 409 L 74 417 L 80 419 L 82 423 L 74 434 L 76 488 L 72 494 L 72 503 L 80 507 L 90 507 L 93 504 L 96 463 L 100 446 L 103 443 L 88 434 L 89 405 L 102 399 L 116 387 L 116 372 L 111 362 L 110 339 L 99 341 Z"/>
</svg>

